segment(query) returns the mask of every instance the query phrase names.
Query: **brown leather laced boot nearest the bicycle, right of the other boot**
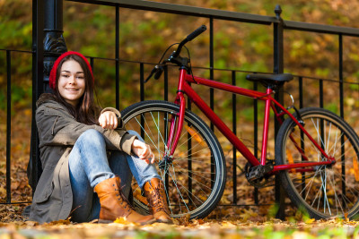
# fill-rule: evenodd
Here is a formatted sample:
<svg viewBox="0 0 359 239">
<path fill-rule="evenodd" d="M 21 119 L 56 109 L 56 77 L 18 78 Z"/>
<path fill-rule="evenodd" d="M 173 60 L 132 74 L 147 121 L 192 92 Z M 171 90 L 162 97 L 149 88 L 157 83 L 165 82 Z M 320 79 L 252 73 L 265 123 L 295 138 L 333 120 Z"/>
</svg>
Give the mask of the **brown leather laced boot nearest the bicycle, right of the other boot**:
<svg viewBox="0 0 359 239">
<path fill-rule="evenodd" d="M 167 205 L 167 197 L 164 192 L 162 180 L 153 178 L 144 184 L 144 195 L 148 201 L 148 208 L 158 222 L 173 223 L 170 210 Z"/>
</svg>

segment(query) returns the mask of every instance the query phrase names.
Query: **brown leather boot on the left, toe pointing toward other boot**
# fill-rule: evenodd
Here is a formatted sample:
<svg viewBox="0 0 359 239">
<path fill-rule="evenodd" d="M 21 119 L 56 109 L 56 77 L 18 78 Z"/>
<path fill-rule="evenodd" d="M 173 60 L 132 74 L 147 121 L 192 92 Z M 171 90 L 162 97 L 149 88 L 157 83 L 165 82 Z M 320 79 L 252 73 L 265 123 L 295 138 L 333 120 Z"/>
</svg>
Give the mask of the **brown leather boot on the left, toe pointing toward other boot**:
<svg viewBox="0 0 359 239">
<path fill-rule="evenodd" d="M 94 191 L 99 195 L 101 204 L 99 222 L 126 218 L 128 222 L 145 225 L 156 221 L 152 215 L 143 216 L 132 208 L 121 192 L 121 179 L 118 176 L 97 184 Z"/>
</svg>

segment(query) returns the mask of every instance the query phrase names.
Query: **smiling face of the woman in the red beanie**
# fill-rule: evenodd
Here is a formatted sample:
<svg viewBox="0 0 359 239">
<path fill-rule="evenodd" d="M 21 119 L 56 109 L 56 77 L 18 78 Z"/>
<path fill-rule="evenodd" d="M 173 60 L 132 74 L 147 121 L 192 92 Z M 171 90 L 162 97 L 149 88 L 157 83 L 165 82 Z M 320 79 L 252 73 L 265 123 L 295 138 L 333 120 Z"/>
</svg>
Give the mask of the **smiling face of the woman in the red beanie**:
<svg viewBox="0 0 359 239">
<path fill-rule="evenodd" d="M 85 89 L 83 68 L 74 60 L 62 64 L 58 78 L 58 92 L 67 103 L 77 106 Z"/>
</svg>

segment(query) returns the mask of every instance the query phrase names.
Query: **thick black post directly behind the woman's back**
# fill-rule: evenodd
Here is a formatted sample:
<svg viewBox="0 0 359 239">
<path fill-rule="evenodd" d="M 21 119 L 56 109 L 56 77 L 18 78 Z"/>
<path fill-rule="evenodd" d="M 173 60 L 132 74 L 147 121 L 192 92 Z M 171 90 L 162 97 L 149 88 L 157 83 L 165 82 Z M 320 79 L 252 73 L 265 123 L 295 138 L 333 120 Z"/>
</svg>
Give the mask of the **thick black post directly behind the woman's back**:
<svg viewBox="0 0 359 239">
<path fill-rule="evenodd" d="M 63 33 L 63 1 L 32 1 L 32 120 L 31 154 L 28 165 L 29 184 L 35 192 L 41 174 L 39 136 L 35 123 L 36 101 L 49 92 L 48 76 L 57 56 L 66 52 Z"/>
</svg>

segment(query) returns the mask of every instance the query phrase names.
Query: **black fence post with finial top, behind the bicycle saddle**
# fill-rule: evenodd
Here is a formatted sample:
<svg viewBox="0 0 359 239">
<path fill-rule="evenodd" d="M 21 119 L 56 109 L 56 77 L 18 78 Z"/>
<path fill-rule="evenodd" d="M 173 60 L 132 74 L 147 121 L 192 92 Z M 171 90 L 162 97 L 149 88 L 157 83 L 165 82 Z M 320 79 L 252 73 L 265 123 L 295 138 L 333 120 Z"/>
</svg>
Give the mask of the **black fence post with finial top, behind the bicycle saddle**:
<svg viewBox="0 0 359 239">
<path fill-rule="evenodd" d="M 275 9 L 277 22 L 274 22 L 274 73 L 284 73 L 284 21 L 281 18 L 280 14 L 282 13 L 282 9 L 280 5 L 276 5 Z M 280 103 L 284 101 L 283 92 L 276 92 L 275 95 L 276 100 Z M 275 121 L 275 132 L 277 133 L 280 125 Z M 275 137 L 276 139 L 276 137 Z M 285 193 L 280 184 L 279 175 L 276 175 L 276 218 L 280 218 L 282 220 L 285 219 Z"/>
</svg>

